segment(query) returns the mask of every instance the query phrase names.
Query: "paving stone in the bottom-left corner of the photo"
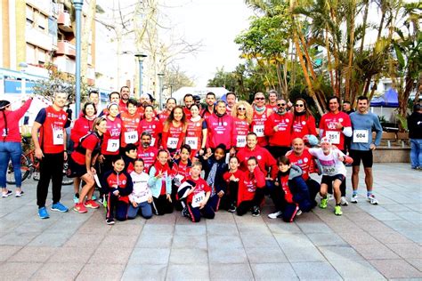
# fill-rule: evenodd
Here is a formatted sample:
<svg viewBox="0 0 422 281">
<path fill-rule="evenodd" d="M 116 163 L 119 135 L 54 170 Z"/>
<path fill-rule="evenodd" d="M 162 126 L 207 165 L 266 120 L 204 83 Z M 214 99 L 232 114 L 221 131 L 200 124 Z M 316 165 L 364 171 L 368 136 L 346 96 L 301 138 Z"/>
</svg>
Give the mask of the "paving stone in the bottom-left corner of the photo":
<svg viewBox="0 0 422 281">
<path fill-rule="evenodd" d="M 2 262 L 0 279 L 28 280 L 42 266 L 43 263 L 41 262 Z"/>
</svg>

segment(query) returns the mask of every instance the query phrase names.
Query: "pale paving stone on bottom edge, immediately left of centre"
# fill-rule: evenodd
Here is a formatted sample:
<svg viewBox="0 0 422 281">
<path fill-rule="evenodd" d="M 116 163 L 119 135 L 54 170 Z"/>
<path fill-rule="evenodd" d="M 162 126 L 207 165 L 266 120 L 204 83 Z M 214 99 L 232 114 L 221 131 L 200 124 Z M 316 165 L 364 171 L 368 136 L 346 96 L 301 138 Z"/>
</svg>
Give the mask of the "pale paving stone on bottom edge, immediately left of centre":
<svg viewBox="0 0 422 281">
<path fill-rule="evenodd" d="M 168 266 L 166 280 L 209 280 L 208 265 L 171 264 Z"/>
</svg>

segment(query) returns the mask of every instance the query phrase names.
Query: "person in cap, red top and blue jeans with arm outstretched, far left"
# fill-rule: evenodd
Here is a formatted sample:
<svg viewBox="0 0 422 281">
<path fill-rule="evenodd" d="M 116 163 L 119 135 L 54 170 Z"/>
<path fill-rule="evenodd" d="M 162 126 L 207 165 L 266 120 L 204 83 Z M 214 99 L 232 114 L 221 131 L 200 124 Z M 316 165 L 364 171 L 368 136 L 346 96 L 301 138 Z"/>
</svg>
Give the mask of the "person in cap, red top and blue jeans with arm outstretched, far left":
<svg viewBox="0 0 422 281">
<path fill-rule="evenodd" d="M 23 194 L 22 173 L 20 172 L 20 146 L 19 120 L 27 112 L 31 105 L 32 98 L 27 100 L 19 109 L 12 111 L 9 100 L 0 100 L 0 185 L 2 186 L 2 197 L 12 194 L 6 187 L 6 172 L 9 160 L 12 159 L 14 179 L 16 181 L 16 197 Z"/>
</svg>

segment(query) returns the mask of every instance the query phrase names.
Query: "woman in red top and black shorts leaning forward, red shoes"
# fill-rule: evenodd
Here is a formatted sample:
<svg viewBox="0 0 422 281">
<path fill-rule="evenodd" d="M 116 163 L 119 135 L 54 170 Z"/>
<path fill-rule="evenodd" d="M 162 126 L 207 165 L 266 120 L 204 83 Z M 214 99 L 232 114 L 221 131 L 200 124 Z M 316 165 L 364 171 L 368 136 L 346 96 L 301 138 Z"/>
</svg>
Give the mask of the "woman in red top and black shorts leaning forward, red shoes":
<svg viewBox="0 0 422 281">
<path fill-rule="evenodd" d="M 107 131 L 106 117 L 99 117 L 94 120 L 92 132 L 81 139 L 80 144 L 69 157 L 68 176 L 75 177 L 78 182 L 83 180 L 78 202 L 73 210 L 77 213 L 86 213 L 86 207 L 97 209 L 99 205 L 93 201 L 93 191 L 95 181 L 93 175 L 96 173 L 93 165 L 97 160 L 101 149 L 103 134 Z M 85 201 L 85 197 L 87 200 Z"/>
</svg>

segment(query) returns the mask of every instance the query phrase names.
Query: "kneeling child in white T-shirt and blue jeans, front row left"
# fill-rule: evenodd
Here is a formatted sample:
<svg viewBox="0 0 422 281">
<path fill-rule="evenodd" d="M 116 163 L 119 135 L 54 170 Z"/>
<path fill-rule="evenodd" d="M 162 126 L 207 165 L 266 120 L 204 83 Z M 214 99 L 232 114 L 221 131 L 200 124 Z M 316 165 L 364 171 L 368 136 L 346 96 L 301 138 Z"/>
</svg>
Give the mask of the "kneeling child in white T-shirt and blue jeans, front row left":
<svg viewBox="0 0 422 281">
<path fill-rule="evenodd" d="M 143 218 L 150 219 L 152 217 L 152 193 L 148 186 L 150 175 L 143 172 L 143 160 L 136 159 L 134 161 L 134 171 L 130 173 L 134 190 L 129 195 L 129 210 L 127 211 L 127 219 L 133 220 L 140 213 Z"/>
</svg>

